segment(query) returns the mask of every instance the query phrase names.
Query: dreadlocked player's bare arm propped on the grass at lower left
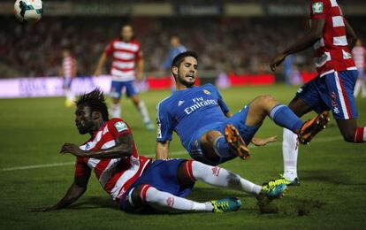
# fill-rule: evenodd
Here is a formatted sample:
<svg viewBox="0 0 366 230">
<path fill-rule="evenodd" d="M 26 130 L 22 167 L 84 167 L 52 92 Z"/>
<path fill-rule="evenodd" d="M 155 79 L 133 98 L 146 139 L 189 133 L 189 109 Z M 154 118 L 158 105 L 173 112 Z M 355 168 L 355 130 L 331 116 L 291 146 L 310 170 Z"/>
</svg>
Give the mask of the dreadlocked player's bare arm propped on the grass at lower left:
<svg viewBox="0 0 366 230">
<path fill-rule="evenodd" d="M 84 176 L 75 176 L 72 186 L 67 190 L 66 195 L 54 206 L 46 208 L 32 209 L 29 211 L 57 211 L 64 209 L 68 205 L 74 203 L 82 196 L 88 188 L 88 180 L 90 173 Z"/>
</svg>

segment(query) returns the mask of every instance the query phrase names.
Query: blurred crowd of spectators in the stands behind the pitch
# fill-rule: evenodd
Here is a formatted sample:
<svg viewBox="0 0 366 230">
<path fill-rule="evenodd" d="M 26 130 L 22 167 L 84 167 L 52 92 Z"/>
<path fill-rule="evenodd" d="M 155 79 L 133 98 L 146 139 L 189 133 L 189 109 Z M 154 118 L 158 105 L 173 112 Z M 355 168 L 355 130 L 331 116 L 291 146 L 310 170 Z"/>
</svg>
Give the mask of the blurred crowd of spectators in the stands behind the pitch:
<svg viewBox="0 0 366 230">
<path fill-rule="evenodd" d="M 358 35 L 366 35 L 364 18 L 348 19 Z M 269 72 L 276 51 L 308 27 L 302 18 L 44 18 L 22 25 L 14 17 L 0 18 L 0 77 L 56 76 L 63 47 L 71 48 L 79 75 L 91 75 L 104 47 L 130 22 L 141 42 L 146 71 L 162 71 L 170 35 L 179 35 L 188 50 L 200 55 L 200 69 L 236 73 Z M 311 50 L 296 56 L 301 70 L 312 71 Z M 107 73 L 107 66 L 104 70 Z"/>
</svg>

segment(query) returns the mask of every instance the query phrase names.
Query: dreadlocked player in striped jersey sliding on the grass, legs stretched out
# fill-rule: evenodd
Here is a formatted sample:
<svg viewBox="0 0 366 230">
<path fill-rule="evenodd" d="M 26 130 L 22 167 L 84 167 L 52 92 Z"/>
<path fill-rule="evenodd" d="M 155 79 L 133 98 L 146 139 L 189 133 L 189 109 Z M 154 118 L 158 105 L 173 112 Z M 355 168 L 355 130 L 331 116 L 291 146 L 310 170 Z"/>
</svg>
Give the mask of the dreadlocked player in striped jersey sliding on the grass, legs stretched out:
<svg viewBox="0 0 366 230">
<path fill-rule="evenodd" d="M 54 206 L 33 211 L 54 211 L 67 207 L 84 194 L 92 170 L 103 189 L 119 203 L 121 210 L 156 211 L 236 211 L 237 198 L 225 198 L 206 203 L 187 200 L 195 180 L 212 186 L 247 192 L 260 204 L 279 198 L 285 184 L 269 182 L 263 186 L 240 178 L 224 168 L 203 165 L 194 160 L 156 160 L 139 156 L 133 134 L 122 119 L 108 119 L 103 92 L 95 89 L 76 102 L 75 124 L 80 134 L 90 139 L 80 147 L 65 143 L 62 154 L 71 153 L 76 159 L 72 186 Z"/>
</svg>

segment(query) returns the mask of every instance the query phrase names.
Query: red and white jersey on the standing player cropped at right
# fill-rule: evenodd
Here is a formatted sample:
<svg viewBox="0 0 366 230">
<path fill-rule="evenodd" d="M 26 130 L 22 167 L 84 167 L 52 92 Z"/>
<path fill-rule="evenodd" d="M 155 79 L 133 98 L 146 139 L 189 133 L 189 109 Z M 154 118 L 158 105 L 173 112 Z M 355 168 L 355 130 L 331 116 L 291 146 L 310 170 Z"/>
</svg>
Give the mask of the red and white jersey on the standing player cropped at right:
<svg viewBox="0 0 366 230">
<path fill-rule="evenodd" d="M 316 71 L 320 76 L 334 71 L 355 70 L 348 49 L 346 26 L 336 0 L 311 0 L 310 19 L 325 19 L 323 37 L 314 45 Z"/>
</svg>

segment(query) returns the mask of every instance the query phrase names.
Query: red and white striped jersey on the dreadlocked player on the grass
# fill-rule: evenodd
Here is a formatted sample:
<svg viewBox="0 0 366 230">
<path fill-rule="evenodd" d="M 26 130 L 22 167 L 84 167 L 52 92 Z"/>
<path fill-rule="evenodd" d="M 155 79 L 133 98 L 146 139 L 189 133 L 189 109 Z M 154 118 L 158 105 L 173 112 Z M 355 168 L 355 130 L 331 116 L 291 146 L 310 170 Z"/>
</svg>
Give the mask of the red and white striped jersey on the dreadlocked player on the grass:
<svg viewBox="0 0 366 230">
<path fill-rule="evenodd" d="M 80 146 L 83 150 L 109 149 L 116 145 L 118 136 L 132 134 L 128 124 L 122 119 L 110 119 L 88 142 Z M 75 176 L 85 176 L 95 171 L 104 190 L 114 200 L 126 193 L 126 190 L 143 173 L 149 164 L 150 158 L 138 156 L 133 142 L 133 156 L 120 158 L 95 159 L 90 157 L 78 157 L 75 165 Z"/>
</svg>

